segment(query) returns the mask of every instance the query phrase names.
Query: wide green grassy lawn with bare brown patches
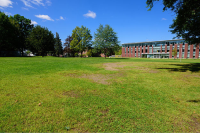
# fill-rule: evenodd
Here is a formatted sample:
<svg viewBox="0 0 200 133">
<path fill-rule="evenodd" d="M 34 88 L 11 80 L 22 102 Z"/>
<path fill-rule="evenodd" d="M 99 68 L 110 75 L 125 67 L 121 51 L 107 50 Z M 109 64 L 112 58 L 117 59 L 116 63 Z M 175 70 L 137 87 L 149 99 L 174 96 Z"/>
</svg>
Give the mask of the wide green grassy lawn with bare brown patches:
<svg viewBox="0 0 200 133">
<path fill-rule="evenodd" d="M 200 131 L 200 60 L 0 58 L 0 132 Z"/>
</svg>

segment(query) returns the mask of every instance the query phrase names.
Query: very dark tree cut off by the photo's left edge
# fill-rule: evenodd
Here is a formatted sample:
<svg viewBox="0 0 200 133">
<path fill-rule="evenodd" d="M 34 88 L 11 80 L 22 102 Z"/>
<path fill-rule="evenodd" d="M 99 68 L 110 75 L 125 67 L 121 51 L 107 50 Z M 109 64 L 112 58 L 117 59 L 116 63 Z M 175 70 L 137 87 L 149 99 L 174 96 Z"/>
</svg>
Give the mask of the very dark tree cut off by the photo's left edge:
<svg viewBox="0 0 200 133">
<path fill-rule="evenodd" d="M 0 12 L 0 50 L 16 50 L 17 36 L 18 27 L 15 25 L 15 21 L 10 19 L 5 13 Z"/>
</svg>

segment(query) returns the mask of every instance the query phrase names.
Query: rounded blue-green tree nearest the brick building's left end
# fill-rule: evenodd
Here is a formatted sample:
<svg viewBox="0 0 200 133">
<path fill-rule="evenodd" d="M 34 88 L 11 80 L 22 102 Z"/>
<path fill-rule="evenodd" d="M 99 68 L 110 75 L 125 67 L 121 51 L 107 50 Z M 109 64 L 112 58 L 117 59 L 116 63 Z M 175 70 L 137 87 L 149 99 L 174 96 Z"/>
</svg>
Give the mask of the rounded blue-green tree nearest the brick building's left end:
<svg viewBox="0 0 200 133">
<path fill-rule="evenodd" d="M 99 28 L 97 29 L 96 33 L 94 34 L 94 47 L 95 49 L 101 50 L 104 53 L 105 58 L 106 54 L 109 49 L 118 49 L 119 48 L 119 41 L 117 37 L 117 33 L 109 26 L 100 24 Z"/>
</svg>

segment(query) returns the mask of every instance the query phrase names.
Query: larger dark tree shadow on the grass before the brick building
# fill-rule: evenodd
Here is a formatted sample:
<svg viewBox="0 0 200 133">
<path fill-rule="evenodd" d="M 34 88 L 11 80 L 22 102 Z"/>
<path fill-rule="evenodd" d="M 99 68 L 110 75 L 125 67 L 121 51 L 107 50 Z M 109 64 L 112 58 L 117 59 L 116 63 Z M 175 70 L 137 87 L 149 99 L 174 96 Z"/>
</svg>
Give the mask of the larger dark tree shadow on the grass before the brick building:
<svg viewBox="0 0 200 133">
<path fill-rule="evenodd" d="M 157 68 L 157 69 L 167 69 L 171 72 L 199 72 L 200 63 L 190 63 L 190 64 L 170 64 L 172 66 L 179 66 L 179 68 Z"/>
</svg>

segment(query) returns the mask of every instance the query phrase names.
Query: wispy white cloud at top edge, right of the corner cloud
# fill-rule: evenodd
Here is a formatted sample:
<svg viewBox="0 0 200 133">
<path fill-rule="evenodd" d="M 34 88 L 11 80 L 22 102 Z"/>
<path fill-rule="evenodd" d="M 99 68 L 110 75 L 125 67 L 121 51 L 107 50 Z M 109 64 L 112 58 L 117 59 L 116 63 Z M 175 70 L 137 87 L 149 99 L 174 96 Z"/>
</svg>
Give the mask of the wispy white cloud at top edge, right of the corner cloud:
<svg viewBox="0 0 200 133">
<path fill-rule="evenodd" d="M 32 8 L 33 8 L 32 5 L 37 5 L 37 6 L 42 5 L 42 6 L 45 6 L 43 0 L 21 0 L 21 1 L 22 1 L 22 2 L 24 3 L 24 5 L 27 6 L 27 7 L 32 7 Z M 46 0 L 46 4 L 47 4 L 48 6 L 50 6 L 50 5 L 51 5 L 51 1 L 50 1 L 50 0 Z"/>
</svg>

